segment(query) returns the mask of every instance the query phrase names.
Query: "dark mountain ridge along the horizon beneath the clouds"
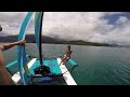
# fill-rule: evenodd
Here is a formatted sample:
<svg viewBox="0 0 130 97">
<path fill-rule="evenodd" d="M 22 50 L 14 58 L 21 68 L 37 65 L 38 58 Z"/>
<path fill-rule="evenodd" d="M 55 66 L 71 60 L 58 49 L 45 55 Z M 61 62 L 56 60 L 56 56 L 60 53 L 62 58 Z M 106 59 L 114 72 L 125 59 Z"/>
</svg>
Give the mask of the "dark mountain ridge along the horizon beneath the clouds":
<svg viewBox="0 0 130 97">
<path fill-rule="evenodd" d="M 17 36 L 6 36 L 6 37 L 0 37 L 0 42 L 14 42 L 17 41 Z M 27 43 L 35 43 L 35 34 L 26 34 L 26 42 Z M 94 45 L 94 46 L 119 46 L 117 44 L 107 44 L 107 43 L 96 43 L 96 42 L 86 42 L 82 40 L 76 40 L 76 41 L 66 41 L 63 39 L 56 39 L 51 38 L 47 36 L 42 36 L 42 43 L 53 43 L 53 44 L 76 44 L 76 45 Z"/>
</svg>

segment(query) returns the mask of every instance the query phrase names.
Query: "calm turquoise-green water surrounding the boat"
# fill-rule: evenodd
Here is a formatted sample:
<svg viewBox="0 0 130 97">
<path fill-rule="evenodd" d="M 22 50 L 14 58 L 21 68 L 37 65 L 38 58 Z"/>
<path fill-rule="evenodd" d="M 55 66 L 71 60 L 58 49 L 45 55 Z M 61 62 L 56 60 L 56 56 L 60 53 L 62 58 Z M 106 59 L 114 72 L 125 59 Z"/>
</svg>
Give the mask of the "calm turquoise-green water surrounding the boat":
<svg viewBox="0 0 130 97">
<path fill-rule="evenodd" d="M 64 44 L 43 44 L 44 57 L 62 56 Z M 72 75 L 78 85 L 129 85 L 130 48 L 72 45 L 72 58 L 79 64 Z M 36 44 L 26 45 L 27 54 L 38 56 Z M 5 51 L 6 64 L 16 59 L 16 46 Z M 68 66 L 67 66 L 68 67 Z M 69 67 L 68 67 L 69 68 Z M 17 70 L 15 66 L 12 71 Z"/>
</svg>

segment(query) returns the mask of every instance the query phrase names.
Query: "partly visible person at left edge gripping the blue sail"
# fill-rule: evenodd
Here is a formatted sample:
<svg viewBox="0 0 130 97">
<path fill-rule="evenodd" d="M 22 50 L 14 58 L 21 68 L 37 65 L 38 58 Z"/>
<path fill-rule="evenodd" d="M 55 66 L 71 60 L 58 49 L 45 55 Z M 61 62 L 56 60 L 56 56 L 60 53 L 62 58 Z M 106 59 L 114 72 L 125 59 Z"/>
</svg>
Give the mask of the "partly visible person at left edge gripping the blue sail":
<svg viewBox="0 0 130 97">
<path fill-rule="evenodd" d="M 0 45 L 0 85 L 14 85 L 12 79 L 10 78 L 10 74 L 5 68 L 5 59 L 3 56 L 3 51 L 6 51 L 15 45 L 22 45 L 25 46 L 26 41 L 22 40 L 18 42 L 13 43 L 6 43 L 3 45 Z"/>
</svg>

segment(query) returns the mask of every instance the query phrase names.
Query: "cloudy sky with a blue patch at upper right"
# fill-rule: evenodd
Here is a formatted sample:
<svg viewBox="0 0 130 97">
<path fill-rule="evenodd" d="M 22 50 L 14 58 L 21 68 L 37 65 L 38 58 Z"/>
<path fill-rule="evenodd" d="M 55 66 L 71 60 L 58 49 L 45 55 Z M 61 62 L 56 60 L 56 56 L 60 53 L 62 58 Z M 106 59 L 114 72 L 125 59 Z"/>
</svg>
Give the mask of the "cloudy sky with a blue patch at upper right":
<svg viewBox="0 0 130 97">
<path fill-rule="evenodd" d="M 0 12 L 0 36 L 18 34 L 27 12 Z M 34 16 L 27 33 L 34 33 Z M 42 34 L 90 42 L 130 43 L 129 12 L 46 12 Z"/>
</svg>

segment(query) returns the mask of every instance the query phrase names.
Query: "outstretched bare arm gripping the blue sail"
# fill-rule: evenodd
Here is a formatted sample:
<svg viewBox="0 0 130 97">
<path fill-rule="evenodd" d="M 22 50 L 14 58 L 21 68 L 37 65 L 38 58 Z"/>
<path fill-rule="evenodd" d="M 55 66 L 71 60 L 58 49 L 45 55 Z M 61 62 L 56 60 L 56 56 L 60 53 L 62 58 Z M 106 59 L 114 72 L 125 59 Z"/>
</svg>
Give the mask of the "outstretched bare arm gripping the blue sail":
<svg viewBox="0 0 130 97">
<path fill-rule="evenodd" d="M 22 41 L 17 41 L 17 42 L 13 42 L 13 43 L 3 44 L 3 45 L 1 45 L 1 47 L 2 47 L 1 50 L 6 51 L 15 45 L 23 45 L 24 46 L 25 43 L 26 43 L 26 41 L 22 40 Z"/>
</svg>

